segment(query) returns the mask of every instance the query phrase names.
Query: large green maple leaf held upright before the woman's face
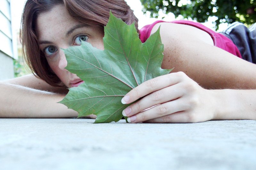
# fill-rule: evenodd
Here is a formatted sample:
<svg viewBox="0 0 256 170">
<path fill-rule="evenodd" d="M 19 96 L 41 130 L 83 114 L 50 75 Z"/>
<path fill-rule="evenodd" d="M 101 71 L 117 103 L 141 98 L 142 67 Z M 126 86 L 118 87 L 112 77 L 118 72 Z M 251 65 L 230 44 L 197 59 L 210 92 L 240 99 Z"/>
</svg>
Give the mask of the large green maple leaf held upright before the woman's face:
<svg viewBox="0 0 256 170">
<path fill-rule="evenodd" d="M 97 115 L 95 123 L 119 121 L 129 106 L 121 103 L 127 92 L 171 71 L 161 69 L 164 45 L 159 29 L 142 43 L 134 24 L 128 26 L 110 12 L 104 33 L 104 50 L 88 42 L 63 49 L 66 69 L 85 83 L 70 88 L 60 103 L 77 111 L 78 117 Z"/>
</svg>

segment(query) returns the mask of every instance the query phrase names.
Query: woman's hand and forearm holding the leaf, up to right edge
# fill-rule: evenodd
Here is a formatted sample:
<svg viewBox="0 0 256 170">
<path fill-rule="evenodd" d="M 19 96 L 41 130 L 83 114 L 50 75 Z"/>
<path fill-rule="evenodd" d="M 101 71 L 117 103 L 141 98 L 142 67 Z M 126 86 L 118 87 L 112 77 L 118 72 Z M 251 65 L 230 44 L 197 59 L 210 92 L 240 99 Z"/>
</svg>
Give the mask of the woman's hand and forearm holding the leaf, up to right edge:
<svg viewBox="0 0 256 170">
<path fill-rule="evenodd" d="M 127 104 L 143 97 L 123 111 L 132 123 L 256 120 L 256 90 L 207 90 L 183 72 L 148 80 L 125 97 Z"/>
</svg>

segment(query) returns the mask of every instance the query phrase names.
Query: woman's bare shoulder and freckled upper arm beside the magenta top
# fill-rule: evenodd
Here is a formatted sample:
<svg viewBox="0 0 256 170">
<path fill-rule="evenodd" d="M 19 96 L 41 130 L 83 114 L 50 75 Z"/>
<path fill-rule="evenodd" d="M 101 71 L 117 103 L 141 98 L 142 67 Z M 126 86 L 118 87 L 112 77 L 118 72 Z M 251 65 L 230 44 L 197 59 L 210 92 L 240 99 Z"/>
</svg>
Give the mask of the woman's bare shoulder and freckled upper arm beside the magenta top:
<svg viewBox="0 0 256 170">
<path fill-rule="evenodd" d="M 161 24 L 162 68 L 182 71 L 206 89 L 256 89 L 256 65 L 211 45 L 204 31 L 181 24 Z M 159 25 L 154 26 L 152 33 Z"/>
</svg>

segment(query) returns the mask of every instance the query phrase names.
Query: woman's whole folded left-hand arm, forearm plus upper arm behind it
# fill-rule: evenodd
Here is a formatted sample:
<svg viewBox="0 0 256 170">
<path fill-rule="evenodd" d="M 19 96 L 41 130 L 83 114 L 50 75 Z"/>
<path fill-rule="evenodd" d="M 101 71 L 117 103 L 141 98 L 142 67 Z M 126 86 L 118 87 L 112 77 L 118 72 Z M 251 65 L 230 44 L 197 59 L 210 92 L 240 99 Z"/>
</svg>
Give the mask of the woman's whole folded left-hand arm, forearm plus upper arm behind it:
<svg viewBox="0 0 256 170">
<path fill-rule="evenodd" d="M 1 118 L 66 118 L 77 117 L 61 101 L 68 90 L 52 87 L 34 75 L 0 82 Z"/>
</svg>

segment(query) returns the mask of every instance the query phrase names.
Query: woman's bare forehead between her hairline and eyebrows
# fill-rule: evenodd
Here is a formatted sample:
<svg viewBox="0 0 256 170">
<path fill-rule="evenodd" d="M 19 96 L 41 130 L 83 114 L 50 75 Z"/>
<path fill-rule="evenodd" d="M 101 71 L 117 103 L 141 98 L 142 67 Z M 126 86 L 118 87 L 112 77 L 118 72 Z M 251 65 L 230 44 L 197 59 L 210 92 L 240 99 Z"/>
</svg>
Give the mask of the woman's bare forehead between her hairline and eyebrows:
<svg viewBox="0 0 256 170">
<path fill-rule="evenodd" d="M 36 33 L 39 40 L 43 37 L 48 39 L 56 35 L 62 36 L 76 24 L 79 22 L 70 17 L 64 5 L 56 5 L 50 11 L 38 15 Z"/>
</svg>

